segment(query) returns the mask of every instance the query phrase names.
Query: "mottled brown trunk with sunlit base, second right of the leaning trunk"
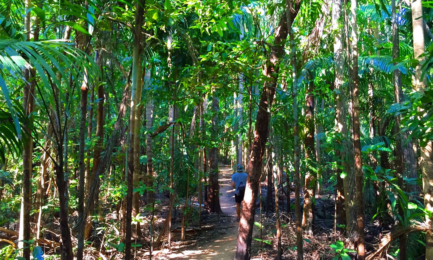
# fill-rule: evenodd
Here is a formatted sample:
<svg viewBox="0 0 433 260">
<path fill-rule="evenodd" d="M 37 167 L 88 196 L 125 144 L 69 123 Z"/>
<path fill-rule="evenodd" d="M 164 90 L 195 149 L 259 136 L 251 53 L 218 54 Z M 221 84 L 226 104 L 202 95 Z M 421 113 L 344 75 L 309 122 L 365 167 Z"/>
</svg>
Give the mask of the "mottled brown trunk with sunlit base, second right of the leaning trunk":
<svg viewBox="0 0 433 260">
<path fill-rule="evenodd" d="M 309 82 L 307 93 L 305 96 L 305 160 L 307 165 L 314 165 L 314 82 L 313 79 Z M 309 168 L 307 166 L 307 168 Z M 302 218 L 302 227 L 307 231 L 308 236 L 313 235 L 313 200 L 316 191 L 316 177 L 312 170 L 305 173 L 304 185 L 304 216 Z"/>
</svg>

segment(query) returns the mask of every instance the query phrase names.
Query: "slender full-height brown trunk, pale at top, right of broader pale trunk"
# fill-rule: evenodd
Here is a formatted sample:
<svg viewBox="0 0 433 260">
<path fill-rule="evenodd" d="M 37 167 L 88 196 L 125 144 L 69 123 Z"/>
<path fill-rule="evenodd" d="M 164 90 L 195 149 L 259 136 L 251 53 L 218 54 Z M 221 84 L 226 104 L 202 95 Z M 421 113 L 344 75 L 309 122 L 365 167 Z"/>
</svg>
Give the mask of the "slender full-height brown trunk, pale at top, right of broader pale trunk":
<svg viewBox="0 0 433 260">
<path fill-rule="evenodd" d="M 364 173 L 361 162 L 361 140 L 359 133 L 359 79 L 358 79 L 358 25 L 357 10 L 358 1 L 351 0 L 351 25 L 352 25 L 352 62 L 351 62 L 351 101 L 352 101 L 352 134 L 353 134 L 353 155 L 355 159 L 355 208 L 356 208 L 356 231 L 355 242 L 358 248 L 358 260 L 365 259 L 364 246 L 364 196 L 362 187 L 364 184 Z"/>
</svg>

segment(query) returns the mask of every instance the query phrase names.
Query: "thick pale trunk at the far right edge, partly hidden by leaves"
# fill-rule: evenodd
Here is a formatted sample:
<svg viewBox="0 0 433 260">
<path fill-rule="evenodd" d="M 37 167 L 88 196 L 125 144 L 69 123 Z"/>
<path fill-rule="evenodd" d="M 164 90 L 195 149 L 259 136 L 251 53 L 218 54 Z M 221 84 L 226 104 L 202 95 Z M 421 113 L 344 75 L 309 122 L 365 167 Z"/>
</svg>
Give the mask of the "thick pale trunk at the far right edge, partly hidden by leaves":
<svg viewBox="0 0 433 260">
<path fill-rule="evenodd" d="M 422 0 L 412 1 L 412 26 L 414 35 L 414 57 L 419 64 L 415 68 L 413 82 L 414 91 L 424 91 L 427 86 L 426 78 L 422 77 L 421 67 L 425 57 L 420 57 L 425 51 L 423 32 L 423 7 Z M 423 174 L 424 205 L 428 211 L 433 211 L 433 142 L 430 141 L 425 147 L 421 147 L 421 172 Z M 431 219 L 426 214 L 426 224 L 432 225 Z M 433 259 L 433 234 L 426 234 L 426 259 Z"/>
</svg>

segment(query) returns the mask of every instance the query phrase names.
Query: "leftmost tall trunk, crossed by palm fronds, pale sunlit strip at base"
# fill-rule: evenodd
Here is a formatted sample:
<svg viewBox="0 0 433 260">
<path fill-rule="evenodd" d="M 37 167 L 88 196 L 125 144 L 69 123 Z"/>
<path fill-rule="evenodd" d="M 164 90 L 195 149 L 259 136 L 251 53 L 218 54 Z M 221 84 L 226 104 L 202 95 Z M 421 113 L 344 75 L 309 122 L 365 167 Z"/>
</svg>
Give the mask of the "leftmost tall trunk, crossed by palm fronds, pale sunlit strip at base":
<svg viewBox="0 0 433 260">
<path fill-rule="evenodd" d="M 30 11 L 32 3 L 31 0 L 25 1 L 25 13 L 24 16 L 24 30 L 29 32 L 27 33 L 27 41 L 30 41 Z M 24 78 L 26 81 L 29 81 L 32 78 L 30 75 L 30 70 L 25 69 L 23 71 Z M 34 73 L 33 73 L 34 75 Z M 35 92 L 34 80 L 32 79 L 29 84 L 24 84 L 23 90 L 23 108 L 26 117 L 29 117 L 33 112 L 34 107 L 34 99 L 33 95 Z M 32 117 L 29 118 L 29 123 L 23 124 L 23 129 L 27 133 L 23 142 L 23 188 L 22 188 L 22 200 L 21 200 L 21 210 L 19 216 L 19 236 L 18 236 L 18 249 L 19 256 L 24 257 L 25 259 L 30 259 L 30 245 L 24 242 L 23 240 L 30 240 L 30 211 L 32 210 L 31 200 L 30 200 L 30 192 L 32 190 L 32 184 L 30 179 L 32 178 L 32 152 L 33 152 L 33 142 L 32 142 L 32 133 L 29 128 L 29 124 L 31 124 Z"/>
</svg>

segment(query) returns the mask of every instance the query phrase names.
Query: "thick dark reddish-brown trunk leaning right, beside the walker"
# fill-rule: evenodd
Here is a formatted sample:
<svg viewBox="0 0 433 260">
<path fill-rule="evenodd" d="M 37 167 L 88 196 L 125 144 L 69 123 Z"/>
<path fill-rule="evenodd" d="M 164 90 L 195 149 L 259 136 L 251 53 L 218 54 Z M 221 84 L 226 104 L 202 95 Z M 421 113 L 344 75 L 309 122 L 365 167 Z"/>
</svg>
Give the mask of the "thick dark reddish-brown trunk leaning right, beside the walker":
<svg viewBox="0 0 433 260">
<path fill-rule="evenodd" d="M 294 6 L 290 13 L 291 18 L 299 11 L 299 4 Z M 293 13 L 294 12 L 294 13 Z M 291 19 L 293 21 L 293 19 Z M 238 242 L 236 247 L 235 260 L 248 260 L 251 256 L 252 228 L 254 226 L 255 202 L 259 189 L 260 175 L 262 172 L 263 155 L 268 139 L 269 118 L 268 109 L 274 100 L 275 88 L 277 84 L 279 59 L 284 54 L 284 42 L 288 35 L 288 25 L 286 13 L 281 16 L 281 20 L 275 30 L 274 48 L 271 49 L 269 61 L 263 74 L 270 81 L 265 81 L 259 101 L 259 111 L 257 112 L 254 140 L 251 144 L 251 154 L 249 157 L 248 178 L 246 183 L 245 197 L 242 203 L 242 215 L 239 224 Z M 278 76 L 277 76 L 278 77 Z"/>
</svg>

